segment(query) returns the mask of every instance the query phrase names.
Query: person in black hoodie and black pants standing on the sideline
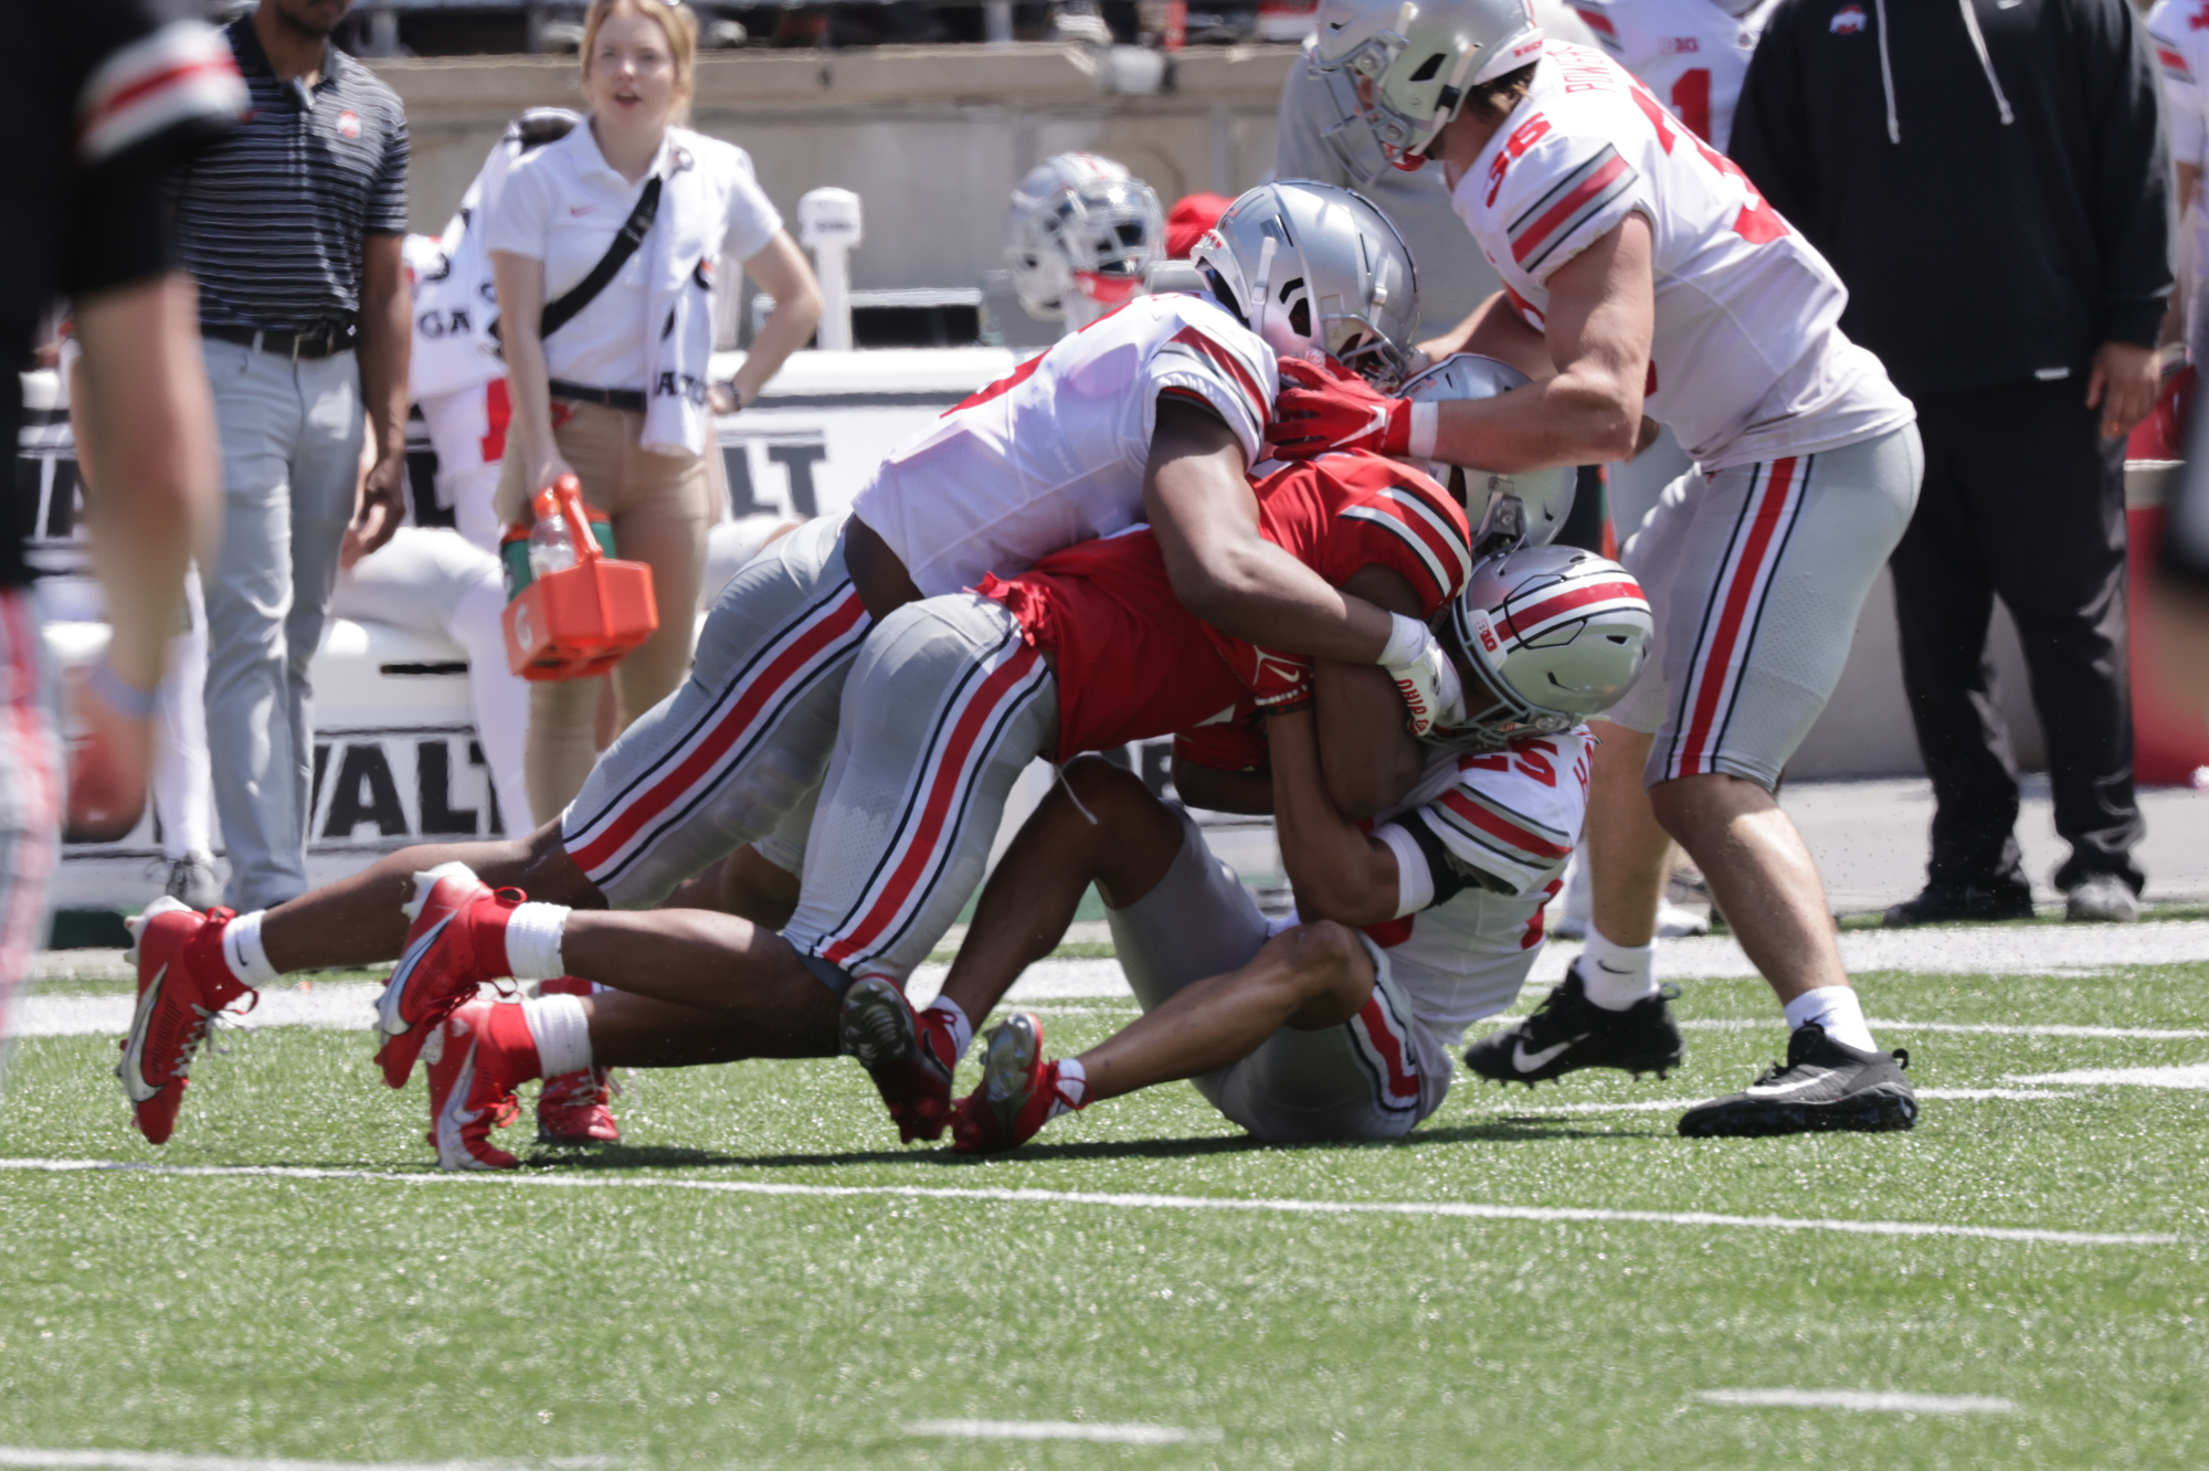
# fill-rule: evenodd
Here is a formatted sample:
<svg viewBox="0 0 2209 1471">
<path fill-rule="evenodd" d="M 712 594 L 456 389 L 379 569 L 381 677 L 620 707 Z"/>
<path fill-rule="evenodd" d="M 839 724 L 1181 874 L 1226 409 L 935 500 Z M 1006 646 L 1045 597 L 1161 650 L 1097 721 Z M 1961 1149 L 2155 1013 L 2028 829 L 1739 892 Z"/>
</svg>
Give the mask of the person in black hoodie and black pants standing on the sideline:
<svg viewBox="0 0 2209 1471">
<path fill-rule="evenodd" d="M 2048 731 L 2068 919 L 2136 919 L 2125 433 L 2171 289 L 2156 64 L 2125 0 L 1783 0 L 1732 157 L 1849 287 L 1842 329 L 1917 402 L 1891 559 L 1933 777 L 1924 892 L 1889 925 L 2032 912 L 1986 629 Z"/>
</svg>

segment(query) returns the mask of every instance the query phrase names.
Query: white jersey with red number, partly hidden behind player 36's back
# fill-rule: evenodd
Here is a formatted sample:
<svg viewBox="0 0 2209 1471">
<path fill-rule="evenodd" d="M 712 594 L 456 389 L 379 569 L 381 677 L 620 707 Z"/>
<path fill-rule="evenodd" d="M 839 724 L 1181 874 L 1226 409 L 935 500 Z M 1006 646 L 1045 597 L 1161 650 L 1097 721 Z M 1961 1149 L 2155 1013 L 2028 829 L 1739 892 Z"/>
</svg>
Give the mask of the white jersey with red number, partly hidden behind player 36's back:
<svg viewBox="0 0 2209 1471">
<path fill-rule="evenodd" d="M 1778 2 L 1754 0 L 1741 15 L 1727 15 L 1719 0 L 1573 0 L 1573 9 L 1672 117 L 1725 152 L 1750 55 Z"/>
</svg>

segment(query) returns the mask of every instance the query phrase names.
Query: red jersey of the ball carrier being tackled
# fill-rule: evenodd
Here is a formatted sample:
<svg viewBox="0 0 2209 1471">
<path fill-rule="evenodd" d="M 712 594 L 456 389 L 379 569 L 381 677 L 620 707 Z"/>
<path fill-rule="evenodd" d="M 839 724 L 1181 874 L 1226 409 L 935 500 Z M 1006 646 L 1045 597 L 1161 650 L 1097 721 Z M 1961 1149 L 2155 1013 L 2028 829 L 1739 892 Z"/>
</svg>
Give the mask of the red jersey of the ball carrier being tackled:
<svg viewBox="0 0 2209 1471">
<path fill-rule="evenodd" d="M 1341 588 L 1363 568 L 1394 568 L 1418 616 L 1449 605 L 1471 574 L 1465 510 L 1418 470 L 1370 453 L 1321 455 L 1255 486 L 1259 532 Z M 1230 638 L 1182 607 L 1149 528 L 1051 552 L 981 594 L 1021 621 L 1058 665 L 1054 762 L 1129 740 L 1224 722 L 1253 702 L 1310 687 L 1310 660 Z"/>
</svg>

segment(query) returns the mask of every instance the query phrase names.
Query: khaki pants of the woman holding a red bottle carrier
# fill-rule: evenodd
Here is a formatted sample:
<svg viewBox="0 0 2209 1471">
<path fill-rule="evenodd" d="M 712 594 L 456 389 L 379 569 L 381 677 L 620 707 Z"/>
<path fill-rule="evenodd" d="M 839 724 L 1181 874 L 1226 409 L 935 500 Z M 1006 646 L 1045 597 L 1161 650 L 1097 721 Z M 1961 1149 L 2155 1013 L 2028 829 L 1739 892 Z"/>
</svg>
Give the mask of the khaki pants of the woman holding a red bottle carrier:
<svg viewBox="0 0 2209 1471">
<path fill-rule="evenodd" d="M 680 689 L 689 674 L 705 576 L 705 528 L 711 521 L 705 459 L 652 455 L 638 446 L 643 413 L 554 400 L 552 440 L 583 481 L 583 499 L 614 521 L 614 546 L 627 561 L 652 568 L 660 627 L 614 665 L 614 733 Z M 521 442 L 506 444 L 497 512 L 501 526 L 528 515 Z M 557 817 L 583 789 L 599 744 L 592 718 L 601 680 L 530 685 L 528 789 L 537 822 Z"/>
</svg>

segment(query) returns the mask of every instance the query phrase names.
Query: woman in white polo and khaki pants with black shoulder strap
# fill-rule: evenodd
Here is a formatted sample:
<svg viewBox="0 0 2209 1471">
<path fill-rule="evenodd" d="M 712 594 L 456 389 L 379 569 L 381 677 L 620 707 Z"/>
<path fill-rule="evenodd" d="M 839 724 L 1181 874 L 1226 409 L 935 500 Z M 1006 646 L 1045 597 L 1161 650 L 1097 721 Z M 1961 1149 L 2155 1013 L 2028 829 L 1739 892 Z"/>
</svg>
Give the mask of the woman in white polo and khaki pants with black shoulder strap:
<svg viewBox="0 0 2209 1471">
<path fill-rule="evenodd" d="M 596 0 L 583 22 L 590 117 L 515 163 L 488 223 L 512 433 L 499 517 L 574 470 L 623 557 L 652 563 L 660 629 L 614 667 L 616 729 L 680 687 L 714 519 L 707 360 L 720 256 L 775 298 L 736 375 L 749 404 L 813 336 L 820 287 L 742 148 L 674 126 L 696 22 L 660 0 Z M 579 305 L 581 303 L 581 305 Z M 541 331 L 550 327 L 550 331 Z M 596 680 L 530 691 L 530 804 L 574 800 L 596 755 Z"/>
</svg>

